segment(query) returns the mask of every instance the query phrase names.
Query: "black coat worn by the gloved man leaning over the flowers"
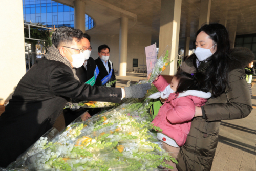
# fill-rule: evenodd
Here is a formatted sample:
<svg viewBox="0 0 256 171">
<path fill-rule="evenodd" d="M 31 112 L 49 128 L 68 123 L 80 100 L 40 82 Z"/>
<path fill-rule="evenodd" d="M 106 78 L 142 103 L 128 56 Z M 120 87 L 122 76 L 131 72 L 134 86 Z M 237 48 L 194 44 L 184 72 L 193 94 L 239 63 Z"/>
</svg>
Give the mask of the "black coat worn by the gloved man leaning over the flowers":
<svg viewBox="0 0 256 171">
<path fill-rule="evenodd" d="M 116 94 L 116 96 L 110 96 Z M 0 116 L 0 167 L 6 167 L 53 126 L 70 98 L 120 103 L 121 89 L 90 86 L 62 62 L 36 60 Z"/>
</svg>

